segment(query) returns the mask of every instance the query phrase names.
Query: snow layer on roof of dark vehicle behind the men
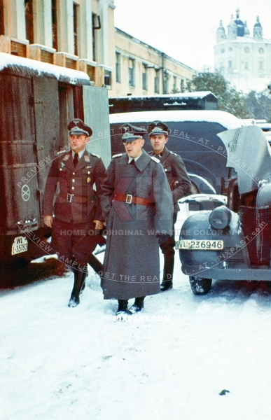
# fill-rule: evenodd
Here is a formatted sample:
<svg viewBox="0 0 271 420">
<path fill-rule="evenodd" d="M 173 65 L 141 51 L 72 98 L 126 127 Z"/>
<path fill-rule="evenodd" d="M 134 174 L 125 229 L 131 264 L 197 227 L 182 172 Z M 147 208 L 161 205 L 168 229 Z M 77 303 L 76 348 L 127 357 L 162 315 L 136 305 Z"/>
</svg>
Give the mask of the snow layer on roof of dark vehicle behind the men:
<svg viewBox="0 0 271 420">
<path fill-rule="evenodd" d="M 141 111 L 114 113 L 109 115 L 110 124 L 115 123 L 142 123 L 145 121 L 160 120 L 164 122 L 181 121 L 207 121 L 218 123 L 231 130 L 244 125 L 243 120 L 225 111 Z"/>
</svg>

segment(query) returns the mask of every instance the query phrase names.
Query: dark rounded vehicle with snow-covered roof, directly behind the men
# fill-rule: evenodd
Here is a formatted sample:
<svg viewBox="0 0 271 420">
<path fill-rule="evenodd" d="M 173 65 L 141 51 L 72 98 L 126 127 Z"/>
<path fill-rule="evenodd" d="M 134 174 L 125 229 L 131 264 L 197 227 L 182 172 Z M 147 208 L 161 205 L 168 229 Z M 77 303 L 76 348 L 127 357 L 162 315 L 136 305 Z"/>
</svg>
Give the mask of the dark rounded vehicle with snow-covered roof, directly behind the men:
<svg viewBox="0 0 271 420">
<path fill-rule="evenodd" d="M 121 141 L 124 123 L 147 128 L 154 120 L 169 127 L 170 151 L 181 155 L 192 181 L 192 193 L 223 194 L 221 179 L 228 176 L 227 151 L 218 133 L 244 125 L 232 114 L 216 110 L 141 111 L 113 113 L 109 116 L 111 153 L 123 153 Z M 151 151 L 151 142 L 145 136 L 145 150 Z"/>
</svg>

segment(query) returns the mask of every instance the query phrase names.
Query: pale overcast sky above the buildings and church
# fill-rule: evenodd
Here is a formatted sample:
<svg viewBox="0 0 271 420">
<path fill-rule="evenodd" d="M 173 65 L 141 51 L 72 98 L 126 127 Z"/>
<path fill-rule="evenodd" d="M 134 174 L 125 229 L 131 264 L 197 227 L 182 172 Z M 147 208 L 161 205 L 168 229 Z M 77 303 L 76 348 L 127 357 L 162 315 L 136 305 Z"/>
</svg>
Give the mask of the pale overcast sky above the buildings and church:
<svg viewBox="0 0 271 420">
<path fill-rule="evenodd" d="M 271 39 L 270 0 L 114 0 L 115 26 L 197 71 L 214 69 L 220 20 L 247 22 L 250 34 L 259 15 L 263 37 Z"/>
</svg>

